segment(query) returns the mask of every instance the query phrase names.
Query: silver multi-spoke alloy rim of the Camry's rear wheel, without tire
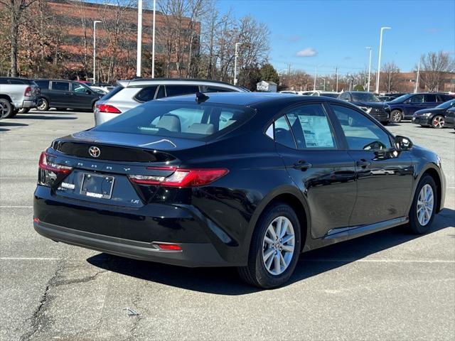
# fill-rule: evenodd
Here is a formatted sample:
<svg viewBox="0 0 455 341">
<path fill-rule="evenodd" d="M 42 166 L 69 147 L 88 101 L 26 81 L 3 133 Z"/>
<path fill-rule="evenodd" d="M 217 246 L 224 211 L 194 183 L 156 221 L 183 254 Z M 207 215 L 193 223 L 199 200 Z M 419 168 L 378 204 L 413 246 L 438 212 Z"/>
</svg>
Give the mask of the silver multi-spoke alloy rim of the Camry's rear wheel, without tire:
<svg viewBox="0 0 455 341">
<path fill-rule="evenodd" d="M 267 227 L 262 247 L 262 260 L 270 274 L 282 274 L 294 255 L 295 233 L 287 217 L 276 217 Z"/>
</svg>

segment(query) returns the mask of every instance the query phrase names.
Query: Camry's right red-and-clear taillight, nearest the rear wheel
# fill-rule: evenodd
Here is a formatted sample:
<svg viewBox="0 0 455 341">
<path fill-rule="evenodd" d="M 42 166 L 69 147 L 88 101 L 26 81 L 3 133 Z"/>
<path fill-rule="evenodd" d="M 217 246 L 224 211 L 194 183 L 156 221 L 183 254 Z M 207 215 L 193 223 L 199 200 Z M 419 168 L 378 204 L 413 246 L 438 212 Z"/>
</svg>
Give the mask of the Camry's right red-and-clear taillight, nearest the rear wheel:
<svg viewBox="0 0 455 341">
<path fill-rule="evenodd" d="M 154 169 L 148 167 L 147 169 Z M 163 168 L 157 168 L 162 170 Z M 228 170 L 221 169 L 183 169 L 177 168 L 169 176 L 156 175 L 128 175 L 129 180 L 133 183 L 141 185 L 161 185 L 168 187 L 198 187 L 213 183 L 224 175 L 228 174 Z"/>
</svg>

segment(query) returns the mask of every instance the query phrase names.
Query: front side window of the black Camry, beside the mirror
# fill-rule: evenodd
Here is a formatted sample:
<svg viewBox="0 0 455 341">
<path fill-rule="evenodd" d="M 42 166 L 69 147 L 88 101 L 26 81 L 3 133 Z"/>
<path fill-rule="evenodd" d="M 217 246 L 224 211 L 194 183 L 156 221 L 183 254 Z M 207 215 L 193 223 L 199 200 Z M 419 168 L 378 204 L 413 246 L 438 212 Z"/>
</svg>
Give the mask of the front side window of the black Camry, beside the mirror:
<svg viewBox="0 0 455 341">
<path fill-rule="evenodd" d="M 382 151 L 392 148 L 389 135 L 374 121 L 341 105 L 331 104 L 331 107 L 341 124 L 350 150 Z"/>
</svg>

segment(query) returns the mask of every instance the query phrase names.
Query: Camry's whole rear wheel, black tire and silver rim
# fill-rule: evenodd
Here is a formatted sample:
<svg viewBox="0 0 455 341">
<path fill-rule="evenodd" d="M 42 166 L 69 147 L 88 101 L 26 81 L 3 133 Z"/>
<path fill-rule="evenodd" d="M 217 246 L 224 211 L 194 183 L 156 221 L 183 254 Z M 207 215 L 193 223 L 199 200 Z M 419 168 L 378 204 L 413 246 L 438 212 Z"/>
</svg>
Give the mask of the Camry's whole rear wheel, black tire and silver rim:
<svg viewBox="0 0 455 341">
<path fill-rule="evenodd" d="M 299 259 L 300 224 L 294 210 L 284 203 L 267 208 L 252 236 L 247 266 L 240 277 L 259 288 L 282 286 L 291 277 Z"/>
</svg>

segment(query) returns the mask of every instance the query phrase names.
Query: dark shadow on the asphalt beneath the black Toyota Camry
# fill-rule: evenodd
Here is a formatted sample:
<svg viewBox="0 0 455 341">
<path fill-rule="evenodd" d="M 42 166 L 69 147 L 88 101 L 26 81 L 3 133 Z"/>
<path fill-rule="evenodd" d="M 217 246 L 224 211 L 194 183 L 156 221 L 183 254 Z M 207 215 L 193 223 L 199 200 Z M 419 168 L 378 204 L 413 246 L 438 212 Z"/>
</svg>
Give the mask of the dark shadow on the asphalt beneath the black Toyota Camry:
<svg viewBox="0 0 455 341">
<path fill-rule="evenodd" d="M 437 232 L 446 227 L 453 227 L 455 210 L 444 209 L 435 217 L 432 229 L 427 234 Z M 423 236 L 427 235 L 424 234 Z M 379 251 L 396 247 L 423 237 L 409 234 L 403 227 L 395 227 L 385 231 L 369 234 L 347 242 L 333 244 L 314 251 L 301 254 L 293 276 L 285 285 L 304 281 L 331 271 L 340 266 L 350 264 Z M 97 254 L 87 259 L 93 266 L 116 272 L 126 276 L 141 278 L 146 281 L 176 286 L 191 291 L 214 293 L 218 295 L 245 295 L 261 291 L 240 281 L 234 268 L 185 268 L 149 261 L 137 261 L 109 254 Z"/>
</svg>

